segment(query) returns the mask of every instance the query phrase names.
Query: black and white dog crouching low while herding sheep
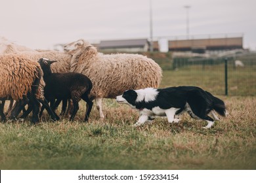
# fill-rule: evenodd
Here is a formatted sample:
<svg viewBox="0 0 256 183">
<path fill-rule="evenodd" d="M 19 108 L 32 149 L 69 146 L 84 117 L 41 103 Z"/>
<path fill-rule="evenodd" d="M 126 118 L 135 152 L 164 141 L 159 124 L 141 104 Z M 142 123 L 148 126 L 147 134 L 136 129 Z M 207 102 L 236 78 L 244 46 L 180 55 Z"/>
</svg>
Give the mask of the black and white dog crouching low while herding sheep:
<svg viewBox="0 0 256 183">
<path fill-rule="evenodd" d="M 139 110 L 140 117 L 135 126 L 153 120 L 155 116 L 167 116 L 169 123 L 177 123 L 179 118 L 175 115 L 187 111 L 192 118 L 206 120 L 208 124 L 204 128 L 210 128 L 214 120 L 219 120 L 213 110 L 226 116 L 224 102 L 196 86 L 127 90 L 117 96 L 116 101 Z M 214 120 L 208 116 L 209 113 Z"/>
</svg>

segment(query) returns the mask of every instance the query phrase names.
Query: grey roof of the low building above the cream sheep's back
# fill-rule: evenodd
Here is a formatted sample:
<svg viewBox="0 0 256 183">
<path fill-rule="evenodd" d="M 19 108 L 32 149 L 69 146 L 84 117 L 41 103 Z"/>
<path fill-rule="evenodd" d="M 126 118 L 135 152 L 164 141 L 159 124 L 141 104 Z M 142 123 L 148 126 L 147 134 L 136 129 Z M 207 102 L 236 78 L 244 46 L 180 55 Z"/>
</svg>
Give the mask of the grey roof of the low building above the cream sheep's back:
<svg viewBox="0 0 256 183">
<path fill-rule="evenodd" d="M 143 48 L 148 44 L 147 39 L 129 39 L 129 40 L 113 40 L 100 41 L 100 48 Z"/>
</svg>

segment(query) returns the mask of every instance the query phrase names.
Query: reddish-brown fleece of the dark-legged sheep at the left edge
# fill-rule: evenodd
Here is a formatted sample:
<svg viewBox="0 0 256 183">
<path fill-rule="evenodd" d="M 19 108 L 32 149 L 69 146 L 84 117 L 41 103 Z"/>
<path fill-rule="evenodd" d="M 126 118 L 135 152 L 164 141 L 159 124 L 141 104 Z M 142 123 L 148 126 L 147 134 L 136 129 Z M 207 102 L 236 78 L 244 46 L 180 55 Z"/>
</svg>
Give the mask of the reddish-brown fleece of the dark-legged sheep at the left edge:
<svg viewBox="0 0 256 183">
<path fill-rule="evenodd" d="M 35 78 L 43 76 L 39 63 L 17 55 L 0 56 L 0 98 L 22 99 L 32 90 Z M 37 98 L 43 97 L 45 83 L 40 80 Z"/>
</svg>

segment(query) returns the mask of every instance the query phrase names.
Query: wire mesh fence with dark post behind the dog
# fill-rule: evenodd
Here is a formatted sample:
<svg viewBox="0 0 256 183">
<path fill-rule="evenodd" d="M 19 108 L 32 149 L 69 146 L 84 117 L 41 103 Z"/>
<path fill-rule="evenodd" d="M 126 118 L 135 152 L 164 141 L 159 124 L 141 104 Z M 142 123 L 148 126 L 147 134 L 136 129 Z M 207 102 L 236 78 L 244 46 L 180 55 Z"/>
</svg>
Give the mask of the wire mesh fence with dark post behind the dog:
<svg viewBox="0 0 256 183">
<path fill-rule="evenodd" d="M 163 86 L 192 85 L 217 95 L 256 95 L 256 53 L 208 58 L 176 57 L 156 61 L 163 69 Z"/>
</svg>

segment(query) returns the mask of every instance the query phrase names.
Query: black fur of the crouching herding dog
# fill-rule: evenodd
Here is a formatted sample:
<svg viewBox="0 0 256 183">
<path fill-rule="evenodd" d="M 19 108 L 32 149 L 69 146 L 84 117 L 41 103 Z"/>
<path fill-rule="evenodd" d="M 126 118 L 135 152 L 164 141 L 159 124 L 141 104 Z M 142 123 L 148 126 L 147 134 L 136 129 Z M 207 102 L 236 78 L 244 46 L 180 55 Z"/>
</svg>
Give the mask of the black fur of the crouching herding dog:
<svg viewBox="0 0 256 183">
<path fill-rule="evenodd" d="M 211 122 L 214 121 L 213 118 L 208 116 L 211 110 L 215 110 L 221 116 L 225 116 L 226 114 L 226 107 L 221 99 L 218 99 L 211 93 L 196 86 L 156 89 L 156 92 L 158 92 L 158 94 L 152 101 L 136 101 L 138 97 L 137 90 L 127 90 L 121 96 L 138 110 L 144 108 L 152 110 L 154 107 L 160 107 L 163 110 L 179 108 L 175 114 L 187 111 L 192 118 L 198 117 Z"/>
</svg>

